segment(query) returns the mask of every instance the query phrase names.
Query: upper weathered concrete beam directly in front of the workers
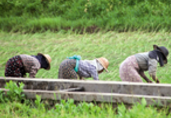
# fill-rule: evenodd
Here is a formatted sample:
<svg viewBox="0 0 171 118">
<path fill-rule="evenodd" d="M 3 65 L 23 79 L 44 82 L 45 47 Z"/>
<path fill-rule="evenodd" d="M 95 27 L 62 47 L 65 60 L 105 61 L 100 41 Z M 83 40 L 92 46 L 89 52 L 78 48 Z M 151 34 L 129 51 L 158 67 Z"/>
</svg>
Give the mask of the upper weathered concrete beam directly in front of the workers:
<svg viewBox="0 0 171 118">
<path fill-rule="evenodd" d="M 30 79 L 30 78 L 4 78 L 0 77 L 0 88 L 10 80 L 23 82 L 24 89 L 34 90 L 63 90 L 83 87 L 85 92 L 93 93 L 120 93 L 130 95 L 171 96 L 171 84 L 149 84 L 116 81 L 86 81 L 66 79 Z"/>
</svg>

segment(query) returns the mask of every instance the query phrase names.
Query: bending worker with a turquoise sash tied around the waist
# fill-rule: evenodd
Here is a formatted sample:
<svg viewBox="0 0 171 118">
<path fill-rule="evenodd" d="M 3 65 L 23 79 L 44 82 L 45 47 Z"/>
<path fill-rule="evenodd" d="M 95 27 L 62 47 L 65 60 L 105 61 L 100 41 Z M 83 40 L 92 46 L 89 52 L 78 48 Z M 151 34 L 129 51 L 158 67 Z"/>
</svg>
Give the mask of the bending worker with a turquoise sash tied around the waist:
<svg viewBox="0 0 171 118">
<path fill-rule="evenodd" d="M 101 57 L 94 60 L 81 60 L 81 57 L 74 55 L 65 59 L 59 67 L 59 79 L 83 79 L 92 77 L 99 80 L 98 74 L 104 70 L 108 72 L 109 62 L 106 58 Z M 78 75 L 78 76 L 77 76 Z"/>
</svg>

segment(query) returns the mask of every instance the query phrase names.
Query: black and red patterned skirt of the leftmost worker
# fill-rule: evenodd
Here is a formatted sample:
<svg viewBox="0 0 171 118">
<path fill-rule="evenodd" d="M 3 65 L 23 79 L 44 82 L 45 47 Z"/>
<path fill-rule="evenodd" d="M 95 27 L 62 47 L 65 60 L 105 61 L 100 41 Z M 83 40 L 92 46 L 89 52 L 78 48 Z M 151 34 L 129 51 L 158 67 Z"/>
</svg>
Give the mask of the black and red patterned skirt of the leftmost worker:
<svg viewBox="0 0 171 118">
<path fill-rule="evenodd" d="M 24 77 L 26 75 L 20 56 L 10 58 L 5 66 L 6 77 Z"/>
</svg>

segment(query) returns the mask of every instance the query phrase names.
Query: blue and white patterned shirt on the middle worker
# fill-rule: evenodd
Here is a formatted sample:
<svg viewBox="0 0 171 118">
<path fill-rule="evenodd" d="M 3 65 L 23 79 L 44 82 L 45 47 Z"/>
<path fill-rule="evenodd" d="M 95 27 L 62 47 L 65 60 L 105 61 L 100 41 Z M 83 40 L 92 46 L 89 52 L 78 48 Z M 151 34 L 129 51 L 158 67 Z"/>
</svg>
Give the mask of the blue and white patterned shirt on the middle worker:
<svg viewBox="0 0 171 118">
<path fill-rule="evenodd" d="M 80 77 L 93 77 L 94 80 L 99 80 L 96 67 L 85 60 L 80 60 L 77 73 Z"/>
</svg>

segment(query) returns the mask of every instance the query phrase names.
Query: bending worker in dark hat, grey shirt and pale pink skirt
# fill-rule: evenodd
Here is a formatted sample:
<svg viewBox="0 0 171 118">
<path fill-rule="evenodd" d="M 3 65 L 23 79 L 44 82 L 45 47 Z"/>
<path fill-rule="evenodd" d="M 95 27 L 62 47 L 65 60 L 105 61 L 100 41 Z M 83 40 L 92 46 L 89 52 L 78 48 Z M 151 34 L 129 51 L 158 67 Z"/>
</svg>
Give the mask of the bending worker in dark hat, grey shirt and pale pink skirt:
<svg viewBox="0 0 171 118">
<path fill-rule="evenodd" d="M 167 56 L 169 51 L 166 47 L 153 45 L 154 50 L 144 53 L 138 53 L 126 58 L 119 68 L 119 74 L 122 81 L 129 82 L 143 82 L 141 77 L 148 83 L 152 83 L 147 78 L 144 71 L 148 71 L 150 77 L 156 82 L 160 83 L 156 77 L 157 65 L 164 66 L 167 64 Z"/>
</svg>

